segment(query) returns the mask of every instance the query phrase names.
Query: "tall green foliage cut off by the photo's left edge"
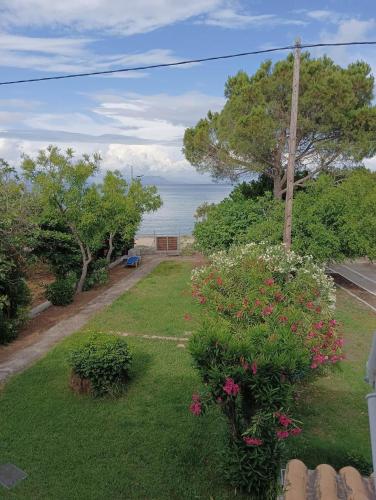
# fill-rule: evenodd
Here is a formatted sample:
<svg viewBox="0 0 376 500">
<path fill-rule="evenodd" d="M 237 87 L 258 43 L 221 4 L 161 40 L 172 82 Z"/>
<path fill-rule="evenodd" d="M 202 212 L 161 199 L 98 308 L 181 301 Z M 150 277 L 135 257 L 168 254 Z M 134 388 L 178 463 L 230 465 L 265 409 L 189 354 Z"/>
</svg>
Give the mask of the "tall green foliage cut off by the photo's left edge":
<svg viewBox="0 0 376 500">
<path fill-rule="evenodd" d="M 24 280 L 29 249 L 37 233 L 35 203 L 15 170 L 0 161 L 0 343 L 17 336 L 30 293 Z"/>
</svg>

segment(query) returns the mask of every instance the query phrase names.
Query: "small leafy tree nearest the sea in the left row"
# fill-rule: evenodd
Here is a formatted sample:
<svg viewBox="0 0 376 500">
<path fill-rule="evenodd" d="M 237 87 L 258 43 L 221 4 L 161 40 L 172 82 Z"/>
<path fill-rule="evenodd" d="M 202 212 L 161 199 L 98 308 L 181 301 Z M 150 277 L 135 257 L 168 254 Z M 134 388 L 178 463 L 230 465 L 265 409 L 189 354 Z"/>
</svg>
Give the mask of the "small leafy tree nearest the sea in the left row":
<svg viewBox="0 0 376 500">
<path fill-rule="evenodd" d="M 127 181 L 118 171 L 108 171 L 99 187 L 101 211 L 108 238 L 107 262 L 111 262 L 114 238 L 124 240 L 134 237 L 142 220 L 142 214 L 157 210 L 162 200 L 155 186 L 142 186 L 139 180 Z"/>
</svg>

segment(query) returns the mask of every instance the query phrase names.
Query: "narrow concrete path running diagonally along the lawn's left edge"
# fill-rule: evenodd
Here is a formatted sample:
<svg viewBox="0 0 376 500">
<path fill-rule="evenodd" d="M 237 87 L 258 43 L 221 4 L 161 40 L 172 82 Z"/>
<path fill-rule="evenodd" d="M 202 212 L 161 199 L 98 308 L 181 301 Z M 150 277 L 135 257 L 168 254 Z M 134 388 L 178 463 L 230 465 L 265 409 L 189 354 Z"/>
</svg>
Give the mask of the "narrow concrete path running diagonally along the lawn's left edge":
<svg viewBox="0 0 376 500">
<path fill-rule="evenodd" d="M 115 299 L 132 288 L 132 286 L 164 260 L 166 260 L 166 257 L 163 256 L 152 256 L 147 260 L 145 259 L 141 267 L 135 269 L 131 275 L 118 281 L 114 286 L 104 291 L 103 294 L 98 295 L 79 313 L 60 321 L 45 331 L 42 338 L 33 345 L 20 349 L 12 355 L 11 359 L 0 363 L 0 382 L 3 382 L 10 375 L 24 370 L 27 366 L 41 358 L 61 339 L 82 328 L 94 314 L 112 304 Z"/>
</svg>

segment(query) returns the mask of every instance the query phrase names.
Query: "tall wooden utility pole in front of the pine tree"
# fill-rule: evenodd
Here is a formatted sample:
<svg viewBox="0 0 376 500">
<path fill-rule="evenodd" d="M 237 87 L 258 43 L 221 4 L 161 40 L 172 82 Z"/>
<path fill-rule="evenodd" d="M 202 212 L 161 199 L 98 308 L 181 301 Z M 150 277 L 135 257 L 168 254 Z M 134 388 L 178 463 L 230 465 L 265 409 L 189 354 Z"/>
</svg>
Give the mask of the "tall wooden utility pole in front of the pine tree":
<svg viewBox="0 0 376 500">
<path fill-rule="evenodd" d="M 295 154 L 296 154 L 296 127 L 298 122 L 299 100 L 299 72 L 300 72 L 300 38 L 295 42 L 294 73 L 292 78 L 291 118 L 289 136 L 289 158 L 286 172 L 286 202 L 285 202 L 285 227 L 283 243 L 287 250 L 291 248 L 292 227 L 292 202 L 294 197 Z"/>
</svg>

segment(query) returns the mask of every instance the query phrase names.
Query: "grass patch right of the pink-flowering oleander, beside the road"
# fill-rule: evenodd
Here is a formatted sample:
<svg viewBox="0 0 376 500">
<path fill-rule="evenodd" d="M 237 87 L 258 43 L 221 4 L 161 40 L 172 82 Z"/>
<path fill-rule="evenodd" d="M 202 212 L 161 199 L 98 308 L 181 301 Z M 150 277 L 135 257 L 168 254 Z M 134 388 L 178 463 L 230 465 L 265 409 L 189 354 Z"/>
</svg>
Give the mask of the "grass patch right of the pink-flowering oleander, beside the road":
<svg viewBox="0 0 376 500">
<path fill-rule="evenodd" d="M 309 388 L 299 405 L 305 432 L 292 453 L 310 466 L 327 462 L 339 468 L 349 465 L 349 455 L 371 462 L 365 395 L 372 389 L 364 377 L 376 315 L 338 290 L 336 317 L 344 326 L 347 359 Z"/>
</svg>

